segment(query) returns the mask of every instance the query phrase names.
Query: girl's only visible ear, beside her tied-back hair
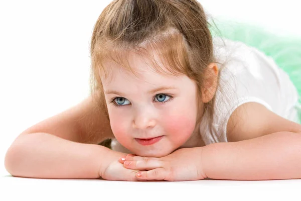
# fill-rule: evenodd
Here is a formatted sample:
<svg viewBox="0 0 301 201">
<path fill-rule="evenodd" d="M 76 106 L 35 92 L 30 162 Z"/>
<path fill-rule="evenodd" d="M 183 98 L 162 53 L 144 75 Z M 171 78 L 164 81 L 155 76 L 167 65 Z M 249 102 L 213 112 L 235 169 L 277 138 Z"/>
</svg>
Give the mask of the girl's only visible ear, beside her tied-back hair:
<svg viewBox="0 0 301 201">
<path fill-rule="evenodd" d="M 210 63 L 205 71 L 205 80 L 202 87 L 202 102 L 208 103 L 214 96 L 217 81 L 218 81 L 218 67 L 216 63 Z"/>
</svg>

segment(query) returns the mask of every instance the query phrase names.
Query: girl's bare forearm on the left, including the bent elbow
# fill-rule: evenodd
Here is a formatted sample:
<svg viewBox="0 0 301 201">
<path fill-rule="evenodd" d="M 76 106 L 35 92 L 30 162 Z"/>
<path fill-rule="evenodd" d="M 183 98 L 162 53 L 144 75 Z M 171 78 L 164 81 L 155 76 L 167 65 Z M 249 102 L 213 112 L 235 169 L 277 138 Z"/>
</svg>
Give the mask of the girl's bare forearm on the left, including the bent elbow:
<svg viewBox="0 0 301 201">
<path fill-rule="evenodd" d="M 5 166 L 20 177 L 99 178 L 108 151 L 111 150 L 99 145 L 33 133 L 16 139 L 6 154 Z"/>
</svg>

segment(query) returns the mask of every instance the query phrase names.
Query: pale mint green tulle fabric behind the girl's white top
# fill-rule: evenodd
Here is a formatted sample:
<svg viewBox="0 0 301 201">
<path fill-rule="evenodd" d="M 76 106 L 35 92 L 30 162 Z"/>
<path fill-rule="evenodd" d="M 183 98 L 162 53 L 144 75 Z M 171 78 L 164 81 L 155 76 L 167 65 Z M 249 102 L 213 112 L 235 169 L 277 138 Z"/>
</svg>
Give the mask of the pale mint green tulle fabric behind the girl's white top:
<svg viewBox="0 0 301 201">
<path fill-rule="evenodd" d="M 240 41 L 255 47 L 273 58 L 275 63 L 290 77 L 297 88 L 299 124 L 301 124 L 301 37 L 277 36 L 264 28 L 231 21 L 219 21 L 210 26 L 213 36 Z M 285 27 L 287 29 L 289 27 Z"/>
</svg>

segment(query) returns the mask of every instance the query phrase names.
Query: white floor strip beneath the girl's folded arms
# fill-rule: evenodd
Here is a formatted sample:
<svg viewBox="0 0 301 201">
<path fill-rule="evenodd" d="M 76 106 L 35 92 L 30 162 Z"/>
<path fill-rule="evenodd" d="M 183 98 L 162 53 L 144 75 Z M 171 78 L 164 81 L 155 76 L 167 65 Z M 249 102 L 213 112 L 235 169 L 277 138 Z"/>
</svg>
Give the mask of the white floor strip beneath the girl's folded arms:
<svg viewBox="0 0 301 201">
<path fill-rule="evenodd" d="M 3 177 L 0 200 L 300 200 L 299 180 L 128 182 Z M 3 199 L 5 197 L 5 199 Z M 29 199 L 30 198 L 30 199 Z M 67 198 L 67 199 L 66 199 Z"/>
</svg>

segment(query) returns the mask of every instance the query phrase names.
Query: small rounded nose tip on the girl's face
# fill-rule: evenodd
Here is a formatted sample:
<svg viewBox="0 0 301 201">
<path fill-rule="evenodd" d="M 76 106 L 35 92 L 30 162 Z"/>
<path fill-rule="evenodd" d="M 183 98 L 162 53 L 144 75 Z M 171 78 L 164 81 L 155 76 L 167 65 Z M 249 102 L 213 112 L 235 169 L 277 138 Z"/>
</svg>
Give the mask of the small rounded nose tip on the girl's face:
<svg viewBox="0 0 301 201">
<path fill-rule="evenodd" d="M 136 114 L 132 121 L 132 127 L 135 129 L 152 128 L 156 125 L 154 112 L 142 108 L 136 111 Z"/>
</svg>

